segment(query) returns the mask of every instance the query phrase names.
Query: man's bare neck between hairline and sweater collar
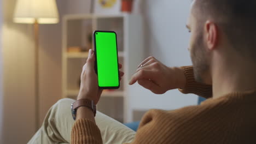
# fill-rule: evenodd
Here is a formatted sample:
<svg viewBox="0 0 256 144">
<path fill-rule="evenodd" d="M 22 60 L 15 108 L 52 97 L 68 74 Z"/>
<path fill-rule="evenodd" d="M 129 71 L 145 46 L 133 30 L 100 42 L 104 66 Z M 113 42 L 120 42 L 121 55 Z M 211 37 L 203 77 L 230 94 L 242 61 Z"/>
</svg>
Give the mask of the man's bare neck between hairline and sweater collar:
<svg viewBox="0 0 256 144">
<path fill-rule="evenodd" d="M 243 61 L 216 63 L 212 68 L 213 98 L 256 89 L 256 67 Z"/>
</svg>

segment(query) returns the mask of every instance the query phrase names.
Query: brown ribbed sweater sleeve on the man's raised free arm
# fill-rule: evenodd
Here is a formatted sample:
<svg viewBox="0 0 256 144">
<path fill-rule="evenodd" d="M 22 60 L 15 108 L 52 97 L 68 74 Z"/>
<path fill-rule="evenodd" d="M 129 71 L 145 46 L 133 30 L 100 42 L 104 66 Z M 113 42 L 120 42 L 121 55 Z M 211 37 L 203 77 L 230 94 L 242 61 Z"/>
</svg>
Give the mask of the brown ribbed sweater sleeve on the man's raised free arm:
<svg viewBox="0 0 256 144">
<path fill-rule="evenodd" d="M 181 68 L 184 70 L 187 83 L 185 85 L 185 88 L 179 89 L 179 91 L 181 91 L 184 94 L 193 93 L 204 98 L 212 97 L 212 86 L 196 82 L 194 78 L 194 70 L 192 66 L 181 67 Z"/>
</svg>

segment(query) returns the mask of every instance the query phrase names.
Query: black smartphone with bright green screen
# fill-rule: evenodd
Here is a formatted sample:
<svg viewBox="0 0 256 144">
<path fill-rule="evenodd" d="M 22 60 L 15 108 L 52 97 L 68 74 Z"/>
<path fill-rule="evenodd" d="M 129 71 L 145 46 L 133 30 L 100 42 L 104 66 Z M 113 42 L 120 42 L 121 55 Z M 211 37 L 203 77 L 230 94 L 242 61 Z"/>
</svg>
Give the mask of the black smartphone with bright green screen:
<svg viewBox="0 0 256 144">
<path fill-rule="evenodd" d="M 98 87 L 100 89 L 118 89 L 120 81 L 117 33 L 112 31 L 94 31 L 93 35 Z"/>
</svg>

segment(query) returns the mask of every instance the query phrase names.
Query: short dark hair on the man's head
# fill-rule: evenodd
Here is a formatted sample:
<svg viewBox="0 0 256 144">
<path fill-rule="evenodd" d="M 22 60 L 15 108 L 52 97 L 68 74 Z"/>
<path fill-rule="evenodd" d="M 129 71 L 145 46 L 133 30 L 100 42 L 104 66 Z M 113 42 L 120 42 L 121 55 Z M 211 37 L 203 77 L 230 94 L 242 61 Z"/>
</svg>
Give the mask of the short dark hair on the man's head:
<svg viewBox="0 0 256 144">
<path fill-rule="evenodd" d="M 200 20 L 212 19 L 235 50 L 256 59 L 256 0 L 194 0 Z"/>
</svg>

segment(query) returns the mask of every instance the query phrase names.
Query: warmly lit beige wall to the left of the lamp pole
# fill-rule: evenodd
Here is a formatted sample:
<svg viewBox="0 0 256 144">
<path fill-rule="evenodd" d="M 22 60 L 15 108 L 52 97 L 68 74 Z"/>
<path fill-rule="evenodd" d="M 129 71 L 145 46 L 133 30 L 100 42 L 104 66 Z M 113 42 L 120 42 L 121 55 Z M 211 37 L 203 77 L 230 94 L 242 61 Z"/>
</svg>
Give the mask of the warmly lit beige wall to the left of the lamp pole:
<svg viewBox="0 0 256 144">
<path fill-rule="evenodd" d="M 35 132 L 32 26 L 13 23 L 15 0 L 3 0 L 3 128 L 0 143 L 26 143 Z"/>
</svg>

